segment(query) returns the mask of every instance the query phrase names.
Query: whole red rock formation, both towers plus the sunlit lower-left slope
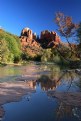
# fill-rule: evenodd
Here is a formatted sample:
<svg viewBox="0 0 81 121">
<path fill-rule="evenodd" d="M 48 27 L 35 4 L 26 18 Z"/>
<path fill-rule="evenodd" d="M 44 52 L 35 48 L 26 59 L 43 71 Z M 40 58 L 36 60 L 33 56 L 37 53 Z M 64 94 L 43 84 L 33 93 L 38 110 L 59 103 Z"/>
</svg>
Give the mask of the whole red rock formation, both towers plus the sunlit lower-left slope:
<svg viewBox="0 0 81 121">
<path fill-rule="evenodd" d="M 39 38 L 29 28 L 24 28 L 21 31 L 20 41 L 21 49 L 28 55 L 28 58 L 40 57 L 43 49 L 57 47 L 61 43 L 56 32 L 42 31 Z"/>
</svg>

